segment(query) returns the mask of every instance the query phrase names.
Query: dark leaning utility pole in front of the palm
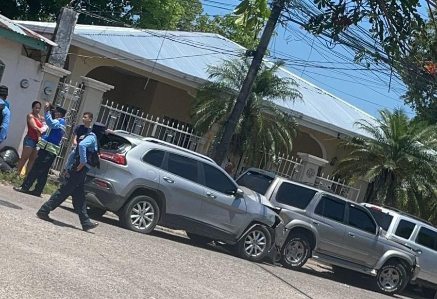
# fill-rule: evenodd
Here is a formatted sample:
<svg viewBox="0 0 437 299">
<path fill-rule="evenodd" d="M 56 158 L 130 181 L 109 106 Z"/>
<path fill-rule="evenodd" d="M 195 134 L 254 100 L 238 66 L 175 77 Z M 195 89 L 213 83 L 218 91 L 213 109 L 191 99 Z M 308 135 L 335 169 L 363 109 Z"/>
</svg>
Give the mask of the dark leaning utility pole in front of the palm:
<svg viewBox="0 0 437 299">
<path fill-rule="evenodd" d="M 226 127 L 221 137 L 220 143 L 215 149 L 213 149 L 213 152 L 211 154 L 212 159 L 218 165 L 221 165 L 224 158 L 226 157 L 226 153 L 228 152 L 229 146 L 231 144 L 232 135 L 235 132 L 235 127 L 237 125 L 238 119 L 243 112 L 244 106 L 246 106 L 247 99 L 249 98 L 249 94 L 252 90 L 253 82 L 255 81 L 261 63 L 263 62 L 263 57 L 266 53 L 267 47 L 269 46 L 270 38 L 273 34 L 273 31 L 275 30 L 276 23 L 278 22 L 279 16 L 281 15 L 285 4 L 286 0 L 275 0 L 273 3 L 273 8 L 269 20 L 267 21 L 266 27 L 264 28 L 261 40 L 259 41 L 259 45 L 256 48 L 256 54 L 253 57 L 252 64 L 246 75 L 246 79 L 244 80 L 243 86 L 241 87 L 240 93 L 238 94 L 234 109 L 232 110 L 231 116 L 226 123 Z"/>
</svg>

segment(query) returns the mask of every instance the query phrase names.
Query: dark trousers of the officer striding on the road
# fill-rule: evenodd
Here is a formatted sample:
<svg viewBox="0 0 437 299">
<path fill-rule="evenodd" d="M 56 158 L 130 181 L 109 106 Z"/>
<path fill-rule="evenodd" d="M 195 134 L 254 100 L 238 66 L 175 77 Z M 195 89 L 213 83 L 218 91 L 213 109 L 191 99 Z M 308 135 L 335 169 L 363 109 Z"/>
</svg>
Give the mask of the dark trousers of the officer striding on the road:
<svg viewBox="0 0 437 299">
<path fill-rule="evenodd" d="M 91 221 L 86 213 L 86 200 L 84 183 L 88 168 L 84 166 L 80 171 L 76 171 L 73 167 L 68 172 L 67 180 L 62 183 L 61 187 L 56 190 L 46 203 L 44 203 L 38 212 L 49 214 L 50 211 L 56 209 L 63 203 L 68 196 L 73 198 L 74 211 L 79 215 L 82 226 L 90 225 Z"/>
</svg>

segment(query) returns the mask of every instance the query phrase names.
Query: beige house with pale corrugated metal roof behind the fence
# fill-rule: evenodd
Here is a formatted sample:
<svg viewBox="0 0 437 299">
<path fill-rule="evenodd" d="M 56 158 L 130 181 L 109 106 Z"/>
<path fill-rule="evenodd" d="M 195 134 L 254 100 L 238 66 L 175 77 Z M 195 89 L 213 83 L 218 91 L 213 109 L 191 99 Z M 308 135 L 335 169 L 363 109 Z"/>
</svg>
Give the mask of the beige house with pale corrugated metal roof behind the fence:
<svg viewBox="0 0 437 299">
<path fill-rule="evenodd" d="M 55 23 L 17 23 L 46 37 L 55 28 Z M 67 80 L 72 83 L 81 82 L 85 76 L 114 86 L 103 94 L 103 101 L 85 104 L 99 115 L 98 120 L 145 136 L 155 130 L 154 134 L 162 134 L 164 139 L 180 139 L 179 145 L 199 149 L 198 143 L 208 147 L 208 136 L 197 136 L 200 141 L 193 143 L 184 135 L 184 130 L 192 130 L 190 109 L 196 89 L 209 80 L 208 66 L 241 55 L 244 50 L 213 33 L 78 24 L 65 68 L 71 72 Z M 300 124 L 295 148 L 286 154 L 288 160 L 296 162 L 298 153 L 306 153 L 320 160 L 313 161 L 320 164 L 315 175 L 332 173 L 336 161 L 345 154 L 337 147 L 338 138 L 364 134 L 355 122 L 373 122 L 374 118 L 286 69 L 280 69 L 279 75 L 293 78 L 303 95 L 302 101 L 277 102 Z M 156 132 L 156 123 L 165 127 Z"/>
</svg>

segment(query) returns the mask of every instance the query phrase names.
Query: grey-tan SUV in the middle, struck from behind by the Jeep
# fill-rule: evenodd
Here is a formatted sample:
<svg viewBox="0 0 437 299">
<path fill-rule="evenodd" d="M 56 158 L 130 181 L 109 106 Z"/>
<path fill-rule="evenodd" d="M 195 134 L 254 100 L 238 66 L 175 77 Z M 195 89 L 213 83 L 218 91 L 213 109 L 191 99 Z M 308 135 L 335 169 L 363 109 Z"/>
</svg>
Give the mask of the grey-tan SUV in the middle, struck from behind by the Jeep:
<svg viewBox="0 0 437 299">
<path fill-rule="evenodd" d="M 401 292 L 417 278 L 420 267 L 414 252 L 382 235 L 365 207 L 257 168 L 248 169 L 237 183 L 281 209 L 288 229 L 280 250 L 283 266 L 297 269 L 312 257 L 332 265 L 336 275 L 353 270 L 373 276 L 386 294 Z"/>
</svg>

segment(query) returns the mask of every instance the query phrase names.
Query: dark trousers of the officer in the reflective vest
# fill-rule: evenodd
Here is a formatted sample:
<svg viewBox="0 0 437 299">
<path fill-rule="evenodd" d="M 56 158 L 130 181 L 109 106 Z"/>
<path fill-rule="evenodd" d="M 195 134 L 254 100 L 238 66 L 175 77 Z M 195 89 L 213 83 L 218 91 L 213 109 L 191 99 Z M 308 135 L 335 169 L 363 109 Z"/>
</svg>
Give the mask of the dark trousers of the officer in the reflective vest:
<svg viewBox="0 0 437 299">
<path fill-rule="evenodd" d="M 38 193 L 42 193 L 42 190 L 47 183 L 50 167 L 55 159 L 56 154 L 43 149 L 39 150 L 34 162 L 34 166 L 32 166 L 32 169 L 24 179 L 21 187 L 29 190 L 29 188 L 32 187 L 35 181 L 38 180 L 35 185 L 35 191 Z"/>
</svg>

